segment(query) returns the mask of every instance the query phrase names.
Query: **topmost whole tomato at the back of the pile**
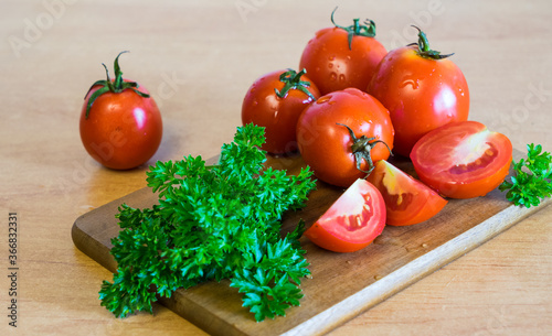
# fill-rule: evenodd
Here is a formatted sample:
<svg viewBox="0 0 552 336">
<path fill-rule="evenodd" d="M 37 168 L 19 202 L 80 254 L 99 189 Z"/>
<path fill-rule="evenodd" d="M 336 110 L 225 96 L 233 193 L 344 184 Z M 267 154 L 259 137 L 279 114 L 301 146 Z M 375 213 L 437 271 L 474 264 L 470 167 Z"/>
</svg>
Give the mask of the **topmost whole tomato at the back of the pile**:
<svg viewBox="0 0 552 336">
<path fill-rule="evenodd" d="M 335 12 L 335 11 L 333 11 Z M 319 30 L 306 45 L 299 68 L 306 68 L 320 94 L 355 87 L 365 90 L 375 67 L 388 51 L 375 40 L 375 24 L 367 20 L 359 24 L 353 20 L 351 26 Z"/>
</svg>

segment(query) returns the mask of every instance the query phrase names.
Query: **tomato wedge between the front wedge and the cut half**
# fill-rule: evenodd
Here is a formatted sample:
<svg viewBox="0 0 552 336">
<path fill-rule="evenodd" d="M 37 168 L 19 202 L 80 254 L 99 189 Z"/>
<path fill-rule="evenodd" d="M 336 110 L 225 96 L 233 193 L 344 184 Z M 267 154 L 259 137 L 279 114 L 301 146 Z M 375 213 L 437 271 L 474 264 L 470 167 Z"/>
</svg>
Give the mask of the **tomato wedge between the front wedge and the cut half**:
<svg viewBox="0 0 552 336">
<path fill-rule="evenodd" d="M 367 177 L 382 194 L 388 225 L 406 226 L 425 221 L 448 203 L 435 191 L 385 160 L 378 161 Z"/>
</svg>

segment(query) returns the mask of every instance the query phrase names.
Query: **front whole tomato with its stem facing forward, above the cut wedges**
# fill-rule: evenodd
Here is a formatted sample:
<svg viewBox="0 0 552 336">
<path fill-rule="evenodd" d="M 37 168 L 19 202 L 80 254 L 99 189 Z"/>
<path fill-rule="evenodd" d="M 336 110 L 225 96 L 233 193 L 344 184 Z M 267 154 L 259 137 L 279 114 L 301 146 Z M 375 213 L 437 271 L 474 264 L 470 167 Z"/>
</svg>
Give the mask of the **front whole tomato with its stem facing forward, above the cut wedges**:
<svg viewBox="0 0 552 336">
<path fill-rule="evenodd" d="M 373 162 L 390 156 L 393 133 L 388 110 L 355 88 L 320 97 L 297 122 L 305 163 L 321 181 L 343 187 L 367 175 Z"/>
</svg>

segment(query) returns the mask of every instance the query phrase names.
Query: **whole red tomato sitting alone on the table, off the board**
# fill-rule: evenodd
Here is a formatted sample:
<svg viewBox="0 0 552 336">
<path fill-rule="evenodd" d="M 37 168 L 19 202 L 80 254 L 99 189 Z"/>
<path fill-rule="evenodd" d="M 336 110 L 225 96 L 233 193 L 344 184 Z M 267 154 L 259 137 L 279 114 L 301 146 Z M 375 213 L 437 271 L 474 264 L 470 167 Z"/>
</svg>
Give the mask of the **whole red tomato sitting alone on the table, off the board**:
<svg viewBox="0 0 552 336">
<path fill-rule="evenodd" d="M 129 170 L 156 153 L 162 120 L 149 93 L 136 82 L 123 79 L 120 54 L 115 58 L 115 79 L 109 78 L 106 67 L 107 80 L 94 83 L 86 94 L 79 130 L 92 158 L 109 169 Z"/>
</svg>

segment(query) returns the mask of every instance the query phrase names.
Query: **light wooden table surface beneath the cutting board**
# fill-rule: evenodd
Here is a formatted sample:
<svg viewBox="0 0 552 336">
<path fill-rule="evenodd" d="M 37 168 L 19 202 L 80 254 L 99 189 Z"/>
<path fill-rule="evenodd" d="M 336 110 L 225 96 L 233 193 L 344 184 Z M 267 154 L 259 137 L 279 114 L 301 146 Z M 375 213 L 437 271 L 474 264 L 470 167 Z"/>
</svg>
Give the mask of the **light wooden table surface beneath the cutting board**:
<svg viewBox="0 0 552 336">
<path fill-rule="evenodd" d="M 552 150 L 552 3 L 541 1 L 2 2 L 0 11 L 0 334 L 203 335 L 156 305 L 116 319 L 99 305 L 112 274 L 71 239 L 82 214 L 146 186 L 147 165 L 110 171 L 89 159 L 78 118 L 102 63 L 120 64 L 161 108 L 156 160 L 211 158 L 241 123 L 258 76 L 298 66 L 318 29 L 371 18 L 388 50 L 414 42 L 454 52 L 470 119 L 514 148 Z M 18 220 L 18 327 L 9 326 L 9 214 Z M 549 335 L 552 207 L 431 274 L 330 335 Z M 350 281 L 350 280 L 348 280 Z M 224 299 L 221 299 L 224 300 Z"/>
</svg>

